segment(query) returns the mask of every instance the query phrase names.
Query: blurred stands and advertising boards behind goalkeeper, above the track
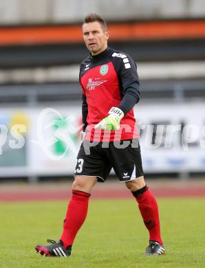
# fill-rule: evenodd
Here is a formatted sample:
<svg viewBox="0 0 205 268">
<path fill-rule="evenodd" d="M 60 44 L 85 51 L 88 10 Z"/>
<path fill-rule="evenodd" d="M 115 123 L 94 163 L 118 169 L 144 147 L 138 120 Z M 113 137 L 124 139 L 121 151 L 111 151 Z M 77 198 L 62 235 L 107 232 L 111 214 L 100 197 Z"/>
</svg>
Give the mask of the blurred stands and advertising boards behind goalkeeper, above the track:
<svg viewBox="0 0 205 268">
<path fill-rule="evenodd" d="M 58 138 L 45 141 L 58 129 L 78 150 L 79 131 L 69 130 L 80 125 L 78 67 L 87 56 L 81 23 L 88 12 L 105 17 L 109 45 L 131 54 L 138 65 L 142 95 L 136 118 L 145 127 L 140 136 L 146 174 L 203 175 L 204 1 L 1 0 L 0 124 L 8 131 L 6 140 L 1 135 L 1 179 L 73 174 L 75 150 Z M 55 111 L 45 113 L 41 129 L 52 120 L 62 122 L 43 130 L 39 146 L 31 141 L 39 141 L 38 118 L 49 107 Z M 18 146 L 18 130 L 12 130 L 15 124 L 26 127 L 20 131 L 23 146 Z M 181 130 L 175 131 L 171 148 L 164 148 L 169 124 Z M 198 129 L 191 131 L 190 124 Z M 65 157 L 56 161 L 47 152 Z"/>
</svg>

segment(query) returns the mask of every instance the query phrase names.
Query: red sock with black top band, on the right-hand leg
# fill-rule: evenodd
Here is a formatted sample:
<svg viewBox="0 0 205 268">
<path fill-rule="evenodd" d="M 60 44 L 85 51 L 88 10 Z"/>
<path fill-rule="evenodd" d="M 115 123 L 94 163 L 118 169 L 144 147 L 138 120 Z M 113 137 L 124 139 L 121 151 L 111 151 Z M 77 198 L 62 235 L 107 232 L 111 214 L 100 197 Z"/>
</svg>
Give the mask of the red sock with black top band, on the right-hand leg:
<svg viewBox="0 0 205 268">
<path fill-rule="evenodd" d="M 138 195 L 138 191 L 136 191 L 133 192 L 133 195 L 136 197 L 136 201 L 138 202 L 138 207 L 140 209 L 144 225 L 149 230 L 149 241 L 157 241 L 160 245 L 162 245 L 158 203 L 147 186 L 146 188 L 144 187 L 144 189 L 145 191 L 142 194 Z"/>
</svg>

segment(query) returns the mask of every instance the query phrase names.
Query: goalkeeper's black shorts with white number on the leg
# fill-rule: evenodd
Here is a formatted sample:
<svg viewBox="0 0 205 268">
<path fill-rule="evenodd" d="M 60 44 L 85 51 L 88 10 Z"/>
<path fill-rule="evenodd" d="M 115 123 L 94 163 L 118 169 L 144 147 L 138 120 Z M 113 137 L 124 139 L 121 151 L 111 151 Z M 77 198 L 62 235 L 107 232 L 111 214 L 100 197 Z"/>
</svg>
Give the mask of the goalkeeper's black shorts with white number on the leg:
<svg viewBox="0 0 205 268">
<path fill-rule="evenodd" d="M 77 156 L 75 175 L 97 177 L 98 181 L 104 182 L 111 168 L 114 168 L 120 181 L 131 181 L 144 175 L 140 144 L 137 139 L 117 144 L 99 142 L 95 146 L 88 146 L 84 140 Z"/>
</svg>

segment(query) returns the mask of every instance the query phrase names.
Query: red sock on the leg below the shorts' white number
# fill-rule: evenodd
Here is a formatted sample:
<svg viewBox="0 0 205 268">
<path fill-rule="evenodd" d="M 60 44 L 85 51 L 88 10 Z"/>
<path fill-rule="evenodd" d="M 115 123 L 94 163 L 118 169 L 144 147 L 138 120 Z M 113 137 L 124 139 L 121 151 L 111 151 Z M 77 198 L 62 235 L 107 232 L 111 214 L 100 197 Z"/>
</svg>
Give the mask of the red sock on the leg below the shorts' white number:
<svg viewBox="0 0 205 268">
<path fill-rule="evenodd" d="M 78 190 L 72 191 L 72 199 L 69 201 L 65 221 L 63 223 L 63 234 L 61 241 L 66 249 L 72 245 L 74 238 L 87 216 L 87 208 L 90 194 Z"/>
</svg>

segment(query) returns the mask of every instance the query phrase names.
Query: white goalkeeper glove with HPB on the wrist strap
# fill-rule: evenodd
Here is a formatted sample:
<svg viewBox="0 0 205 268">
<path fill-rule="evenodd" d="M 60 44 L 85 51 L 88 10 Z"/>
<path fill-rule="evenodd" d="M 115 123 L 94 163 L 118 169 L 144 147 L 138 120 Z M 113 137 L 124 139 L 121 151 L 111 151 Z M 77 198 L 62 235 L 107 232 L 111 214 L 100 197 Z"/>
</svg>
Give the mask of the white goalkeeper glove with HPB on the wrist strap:
<svg viewBox="0 0 205 268">
<path fill-rule="evenodd" d="M 96 124 L 95 129 L 103 129 L 105 131 L 118 131 L 120 129 L 120 120 L 124 117 L 124 113 L 118 107 L 112 107 L 109 110 L 107 118 L 102 119 Z"/>
</svg>

